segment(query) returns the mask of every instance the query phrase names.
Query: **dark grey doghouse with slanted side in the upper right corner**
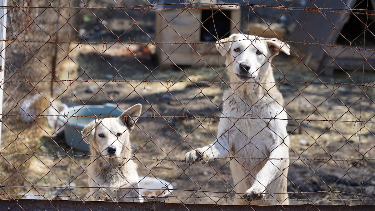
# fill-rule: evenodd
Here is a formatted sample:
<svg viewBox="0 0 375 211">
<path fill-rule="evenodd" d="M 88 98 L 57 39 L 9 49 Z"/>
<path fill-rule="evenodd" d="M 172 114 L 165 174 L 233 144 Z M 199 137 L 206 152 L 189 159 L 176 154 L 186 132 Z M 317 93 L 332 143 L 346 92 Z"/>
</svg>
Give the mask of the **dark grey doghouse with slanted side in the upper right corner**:
<svg viewBox="0 0 375 211">
<path fill-rule="evenodd" d="M 303 62 L 317 74 L 331 76 L 335 69 L 375 70 L 374 0 L 309 3 L 306 8 L 311 10 L 297 18 L 302 26 L 296 27 L 289 39 L 301 43 L 295 44 L 293 51 Z"/>
</svg>

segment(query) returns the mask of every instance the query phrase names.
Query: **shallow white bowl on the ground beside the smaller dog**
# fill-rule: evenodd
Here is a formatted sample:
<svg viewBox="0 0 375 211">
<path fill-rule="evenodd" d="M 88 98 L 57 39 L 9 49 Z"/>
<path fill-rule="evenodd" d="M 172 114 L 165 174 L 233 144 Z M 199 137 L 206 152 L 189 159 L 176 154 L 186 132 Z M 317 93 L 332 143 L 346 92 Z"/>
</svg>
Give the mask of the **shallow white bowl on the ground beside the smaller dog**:
<svg viewBox="0 0 375 211">
<path fill-rule="evenodd" d="M 173 185 L 170 182 L 149 176 L 140 176 L 138 187 L 141 199 L 148 201 L 165 201 L 165 198 L 173 191 Z"/>
</svg>

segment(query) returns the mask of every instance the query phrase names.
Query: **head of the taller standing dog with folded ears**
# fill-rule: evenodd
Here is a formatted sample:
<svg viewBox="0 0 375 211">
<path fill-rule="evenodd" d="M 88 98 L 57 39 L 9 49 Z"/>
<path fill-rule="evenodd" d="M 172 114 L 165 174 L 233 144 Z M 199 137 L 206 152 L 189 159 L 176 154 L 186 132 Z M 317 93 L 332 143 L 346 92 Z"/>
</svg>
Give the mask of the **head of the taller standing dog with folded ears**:
<svg viewBox="0 0 375 211">
<path fill-rule="evenodd" d="M 222 56 L 226 56 L 227 69 L 231 71 L 229 75 L 240 81 L 251 78 L 258 81 L 267 74 L 269 62 L 279 50 L 289 54 L 289 45 L 285 42 L 243 34 L 221 39 L 216 48 Z"/>
</svg>

